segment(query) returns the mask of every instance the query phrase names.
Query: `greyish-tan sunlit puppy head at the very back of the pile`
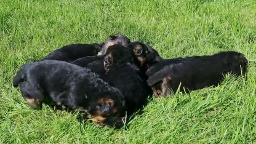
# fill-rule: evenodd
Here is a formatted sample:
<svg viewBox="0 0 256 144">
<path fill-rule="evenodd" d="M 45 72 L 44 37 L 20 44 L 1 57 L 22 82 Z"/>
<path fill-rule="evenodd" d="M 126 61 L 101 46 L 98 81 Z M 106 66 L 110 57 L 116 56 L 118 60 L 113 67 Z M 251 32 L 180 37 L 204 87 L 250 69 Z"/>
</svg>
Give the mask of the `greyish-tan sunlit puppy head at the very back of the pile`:
<svg viewBox="0 0 256 144">
<path fill-rule="evenodd" d="M 117 45 L 117 44 L 127 46 L 130 43 L 131 43 L 130 39 L 125 35 L 120 35 L 120 34 L 111 35 L 109 36 L 109 40 L 107 40 L 102 46 L 101 51 L 98 53 L 98 55 L 104 55 L 107 51 L 107 48 L 109 48 L 109 46 Z"/>
</svg>

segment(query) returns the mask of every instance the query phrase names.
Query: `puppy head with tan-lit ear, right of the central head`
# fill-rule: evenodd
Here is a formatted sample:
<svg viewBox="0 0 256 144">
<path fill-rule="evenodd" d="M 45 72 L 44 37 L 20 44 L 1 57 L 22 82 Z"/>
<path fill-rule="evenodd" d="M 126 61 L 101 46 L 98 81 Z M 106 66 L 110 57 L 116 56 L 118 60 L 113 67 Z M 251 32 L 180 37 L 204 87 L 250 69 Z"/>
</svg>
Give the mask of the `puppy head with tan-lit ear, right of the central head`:
<svg viewBox="0 0 256 144">
<path fill-rule="evenodd" d="M 133 50 L 137 62 L 140 67 L 145 68 L 146 70 L 157 61 L 160 61 L 161 57 L 155 49 L 150 47 L 147 44 L 135 41 L 128 45 L 129 48 Z"/>
</svg>

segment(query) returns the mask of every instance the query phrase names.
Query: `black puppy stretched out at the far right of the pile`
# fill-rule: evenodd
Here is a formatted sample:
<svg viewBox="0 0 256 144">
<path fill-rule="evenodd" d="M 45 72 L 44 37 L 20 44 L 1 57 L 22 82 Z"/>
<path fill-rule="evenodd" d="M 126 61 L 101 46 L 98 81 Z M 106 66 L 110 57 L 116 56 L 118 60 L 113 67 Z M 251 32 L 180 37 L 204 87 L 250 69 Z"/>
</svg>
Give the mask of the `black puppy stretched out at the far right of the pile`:
<svg viewBox="0 0 256 144">
<path fill-rule="evenodd" d="M 192 56 L 160 61 L 146 72 L 147 82 L 156 97 L 170 95 L 169 89 L 177 91 L 197 90 L 218 85 L 227 73 L 245 74 L 247 59 L 242 53 L 227 51 L 212 56 Z M 183 89 L 184 87 L 184 89 Z"/>
</svg>

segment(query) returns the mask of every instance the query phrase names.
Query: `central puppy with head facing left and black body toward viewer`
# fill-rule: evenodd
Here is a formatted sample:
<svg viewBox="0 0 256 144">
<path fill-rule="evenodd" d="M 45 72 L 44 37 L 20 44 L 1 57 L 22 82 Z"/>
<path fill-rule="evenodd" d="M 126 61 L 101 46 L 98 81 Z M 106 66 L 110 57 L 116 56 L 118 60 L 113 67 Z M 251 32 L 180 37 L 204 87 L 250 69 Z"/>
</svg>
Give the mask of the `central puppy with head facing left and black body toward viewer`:
<svg viewBox="0 0 256 144">
<path fill-rule="evenodd" d="M 134 60 L 131 48 L 122 45 L 110 46 L 104 57 L 104 80 L 123 94 L 128 115 L 141 109 L 151 93 L 145 73 Z"/>
</svg>

